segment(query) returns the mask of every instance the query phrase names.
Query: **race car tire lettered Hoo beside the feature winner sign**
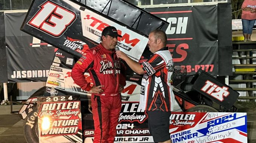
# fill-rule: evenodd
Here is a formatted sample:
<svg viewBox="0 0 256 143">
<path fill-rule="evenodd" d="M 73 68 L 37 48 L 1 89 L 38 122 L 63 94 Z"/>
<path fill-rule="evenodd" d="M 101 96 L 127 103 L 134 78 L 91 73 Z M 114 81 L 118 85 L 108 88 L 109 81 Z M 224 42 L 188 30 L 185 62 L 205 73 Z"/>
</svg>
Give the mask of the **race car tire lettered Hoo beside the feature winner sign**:
<svg viewBox="0 0 256 143">
<path fill-rule="evenodd" d="M 23 133 L 27 143 L 39 143 L 37 105 L 24 119 Z"/>
</svg>

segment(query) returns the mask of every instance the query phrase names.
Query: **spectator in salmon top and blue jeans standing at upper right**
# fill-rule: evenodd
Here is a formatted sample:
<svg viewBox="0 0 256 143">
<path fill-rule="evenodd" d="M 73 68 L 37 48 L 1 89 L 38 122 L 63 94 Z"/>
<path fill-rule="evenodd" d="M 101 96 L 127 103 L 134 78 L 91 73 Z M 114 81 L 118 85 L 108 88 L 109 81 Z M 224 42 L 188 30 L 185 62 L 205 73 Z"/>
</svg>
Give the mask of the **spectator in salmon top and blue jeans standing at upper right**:
<svg viewBox="0 0 256 143">
<path fill-rule="evenodd" d="M 242 25 L 244 42 L 250 42 L 256 20 L 256 0 L 244 0 L 242 4 Z"/>
</svg>

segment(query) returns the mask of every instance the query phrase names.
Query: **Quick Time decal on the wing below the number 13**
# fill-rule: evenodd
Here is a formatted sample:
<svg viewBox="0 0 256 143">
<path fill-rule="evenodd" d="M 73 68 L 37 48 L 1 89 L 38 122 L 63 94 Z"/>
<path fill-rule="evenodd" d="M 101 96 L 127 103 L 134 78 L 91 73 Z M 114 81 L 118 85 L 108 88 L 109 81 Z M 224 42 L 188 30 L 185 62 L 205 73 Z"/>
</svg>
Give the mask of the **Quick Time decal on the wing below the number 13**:
<svg viewBox="0 0 256 143">
<path fill-rule="evenodd" d="M 84 54 L 87 49 L 89 49 L 88 45 L 80 41 L 78 39 L 72 39 L 70 37 L 66 38 L 63 45 L 71 50 L 77 51 L 80 54 Z"/>
</svg>

